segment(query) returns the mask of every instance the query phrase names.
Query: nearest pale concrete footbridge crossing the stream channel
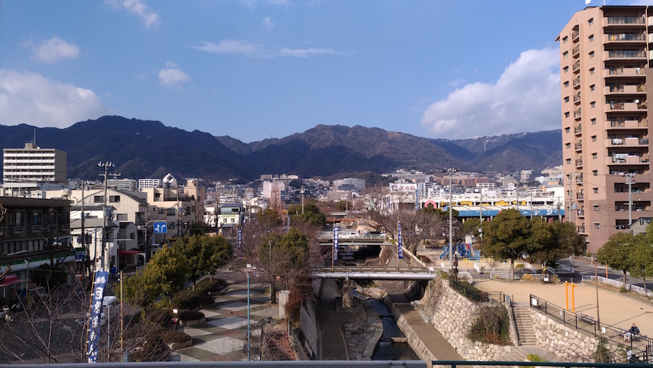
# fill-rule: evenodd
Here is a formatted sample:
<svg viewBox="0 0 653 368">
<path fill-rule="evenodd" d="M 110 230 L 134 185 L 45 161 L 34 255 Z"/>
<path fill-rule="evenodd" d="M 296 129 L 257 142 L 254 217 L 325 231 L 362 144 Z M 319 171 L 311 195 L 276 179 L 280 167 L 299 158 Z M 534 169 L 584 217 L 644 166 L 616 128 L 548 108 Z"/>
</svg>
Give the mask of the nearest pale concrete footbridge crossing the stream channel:
<svg viewBox="0 0 653 368">
<path fill-rule="evenodd" d="M 436 270 L 428 267 L 335 266 L 313 268 L 315 279 L 432 280 Z"/>
</svg>

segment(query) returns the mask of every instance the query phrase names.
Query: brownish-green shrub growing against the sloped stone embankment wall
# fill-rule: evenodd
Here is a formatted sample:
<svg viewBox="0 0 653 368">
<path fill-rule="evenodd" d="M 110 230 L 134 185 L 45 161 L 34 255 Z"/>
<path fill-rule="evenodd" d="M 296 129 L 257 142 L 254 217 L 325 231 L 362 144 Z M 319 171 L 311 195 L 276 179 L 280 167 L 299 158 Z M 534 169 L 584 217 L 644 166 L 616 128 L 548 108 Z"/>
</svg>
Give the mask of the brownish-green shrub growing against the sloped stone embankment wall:
<svg viewBox="0 0 653 368">
<path fill-rule="evenodd" d="M 506 307 L 503 305 L 482 307 L 467 337 L 483 343 L 509 345 L 509 325 L 510 318 Z"/>
</svg>

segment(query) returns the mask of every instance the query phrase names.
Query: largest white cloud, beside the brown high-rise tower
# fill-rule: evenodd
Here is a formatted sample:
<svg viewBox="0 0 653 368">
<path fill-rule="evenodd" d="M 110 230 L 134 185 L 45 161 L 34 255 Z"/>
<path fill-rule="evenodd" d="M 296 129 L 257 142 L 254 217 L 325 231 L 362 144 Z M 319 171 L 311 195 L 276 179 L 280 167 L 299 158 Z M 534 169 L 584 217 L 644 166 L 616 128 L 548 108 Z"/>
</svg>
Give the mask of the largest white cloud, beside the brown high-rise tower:
<svg viewBox="0 0 653 368">
<path fill-rule="evenodd" d="M 470 83 L 425 110 L 438 138 L 472 138 L 560 129 L 560 54 L 528 50 L 494 84 Z"/>
</svg>

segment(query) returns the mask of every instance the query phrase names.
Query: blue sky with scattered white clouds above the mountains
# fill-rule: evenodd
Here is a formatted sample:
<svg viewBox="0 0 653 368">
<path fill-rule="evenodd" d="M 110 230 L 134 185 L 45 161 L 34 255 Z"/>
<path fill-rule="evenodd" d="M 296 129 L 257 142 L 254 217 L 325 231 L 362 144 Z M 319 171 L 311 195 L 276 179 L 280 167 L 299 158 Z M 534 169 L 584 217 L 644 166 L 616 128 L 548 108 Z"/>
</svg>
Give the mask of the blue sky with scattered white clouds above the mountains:
<svg viewBox="0 0 653 368">
<path fill-rule="evenodd" d="M 243 142 L 318 124 L 450 139 L 559 129 L 555 37 L 585 6 L 5 0 L 0 124 L 119 115 Z"/>
</svg>

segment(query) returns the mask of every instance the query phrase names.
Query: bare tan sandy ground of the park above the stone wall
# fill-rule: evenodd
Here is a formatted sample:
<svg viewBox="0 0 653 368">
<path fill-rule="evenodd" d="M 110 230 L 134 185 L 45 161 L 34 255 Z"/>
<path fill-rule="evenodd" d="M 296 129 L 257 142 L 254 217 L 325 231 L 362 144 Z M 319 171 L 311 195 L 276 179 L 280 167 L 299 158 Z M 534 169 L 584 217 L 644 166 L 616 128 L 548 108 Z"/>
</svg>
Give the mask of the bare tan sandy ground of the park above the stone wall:
<svg viewBox="0 0 653 368">
<path fill-rule="evenodd" d="M 575 284 L 573 298 L 571 284 L 568 285 L 566 297 L 564 283 L 542 284 L 522 281 L 476 281 L 476 287 L 487 292 L 504 292 L 513 297 L 517 303 L 529 303 L 530 294 L 553 303 L 558 307 L 567 307 L 576 313 L 584 313 L 597 318 L 597 292 L 592 284 Z M 630 328 L 637 323 L 641 334 L 653 336 L 653 303 L 645 299 L 637 299 L 628 294 L 599 287 L 598 312 L 601 323 Z"/>
</svg>

